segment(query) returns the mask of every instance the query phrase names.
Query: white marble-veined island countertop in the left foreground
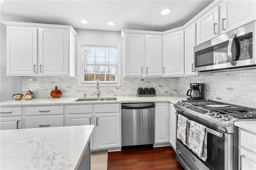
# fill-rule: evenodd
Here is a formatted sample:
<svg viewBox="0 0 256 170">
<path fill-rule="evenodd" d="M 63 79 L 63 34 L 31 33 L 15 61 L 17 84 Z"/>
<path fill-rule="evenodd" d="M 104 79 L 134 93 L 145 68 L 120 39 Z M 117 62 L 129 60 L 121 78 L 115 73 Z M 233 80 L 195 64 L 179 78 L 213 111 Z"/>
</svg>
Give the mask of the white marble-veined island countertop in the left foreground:
<svg viewBox="0 0 256 170">
<path fill-rule="evenodd" d="M 94 125 L 1 130 L 1 170 L 77 169 Z"/>
</svg>

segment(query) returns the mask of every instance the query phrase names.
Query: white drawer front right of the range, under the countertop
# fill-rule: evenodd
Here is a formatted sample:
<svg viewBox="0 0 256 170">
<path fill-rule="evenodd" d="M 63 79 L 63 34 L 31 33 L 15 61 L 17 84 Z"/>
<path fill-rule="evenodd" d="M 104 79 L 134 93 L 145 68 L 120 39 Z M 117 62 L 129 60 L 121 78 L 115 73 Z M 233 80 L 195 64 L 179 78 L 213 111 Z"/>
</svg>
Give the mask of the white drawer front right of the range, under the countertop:
<svg viewBox="0 0 256 170">
<path fill-rule="evenodd" d="M 250 140 L 248 140 L 250 139 Z M 240 131 L 241 146 L 256 152 L 256 135 L 246 131 Z"/>
</svg>

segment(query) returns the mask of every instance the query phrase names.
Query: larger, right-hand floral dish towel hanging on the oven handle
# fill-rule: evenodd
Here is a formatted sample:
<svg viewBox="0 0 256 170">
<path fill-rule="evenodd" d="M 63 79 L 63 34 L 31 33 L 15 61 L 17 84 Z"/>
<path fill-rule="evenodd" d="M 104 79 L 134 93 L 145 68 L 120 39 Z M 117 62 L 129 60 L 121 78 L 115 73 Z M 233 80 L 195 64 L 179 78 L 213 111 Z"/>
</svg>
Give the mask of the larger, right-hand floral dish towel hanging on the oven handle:
<svg viewBox="0 0 256 170">
<path fill-rule="evenodd" d="M 204 125 L 190 121 L 188 148 L 199 158 L 207 159 L 207 131 Z"/>
</svg>

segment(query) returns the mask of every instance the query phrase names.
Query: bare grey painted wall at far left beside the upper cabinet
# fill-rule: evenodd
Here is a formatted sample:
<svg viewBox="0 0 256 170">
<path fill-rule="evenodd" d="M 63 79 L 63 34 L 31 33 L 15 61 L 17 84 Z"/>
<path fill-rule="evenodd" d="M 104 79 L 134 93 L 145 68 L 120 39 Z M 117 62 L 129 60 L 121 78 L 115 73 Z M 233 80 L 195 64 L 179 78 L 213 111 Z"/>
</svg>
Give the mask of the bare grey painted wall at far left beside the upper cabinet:
<svg viewBox="0 0 256 170">
<path fill-rule="evenodd" d="M 12 95 L 22 93 L 22 77 L 6 76 L 6 25 L 1 27 L 1 58 L 0 58 L 0 102 L 13 100 Z"/>
</svg>

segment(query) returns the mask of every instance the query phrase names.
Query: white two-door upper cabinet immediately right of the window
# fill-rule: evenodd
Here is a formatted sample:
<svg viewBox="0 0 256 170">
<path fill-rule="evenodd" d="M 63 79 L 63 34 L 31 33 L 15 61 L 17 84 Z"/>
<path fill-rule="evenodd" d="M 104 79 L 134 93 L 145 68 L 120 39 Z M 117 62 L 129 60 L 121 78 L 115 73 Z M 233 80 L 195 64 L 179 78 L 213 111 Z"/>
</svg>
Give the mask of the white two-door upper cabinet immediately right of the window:
<svg viewBox="0 0 256 170">
<path fill-rule="evenodd" d="M 125 30 L 127 31 L 127 30 Z M 162 35 L 122 30 L 124 35 L 124 77 L 162 76 Z M 135 33 L 130 33 L 135 32 Z"/>
</svg>

